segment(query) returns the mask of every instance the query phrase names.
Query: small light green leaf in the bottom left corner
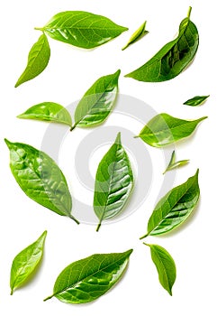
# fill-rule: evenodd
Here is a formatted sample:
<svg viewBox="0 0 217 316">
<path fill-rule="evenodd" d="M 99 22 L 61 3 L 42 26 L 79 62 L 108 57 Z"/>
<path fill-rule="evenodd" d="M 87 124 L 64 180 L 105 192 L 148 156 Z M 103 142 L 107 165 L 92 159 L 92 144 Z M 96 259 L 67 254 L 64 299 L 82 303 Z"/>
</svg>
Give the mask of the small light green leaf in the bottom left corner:
<svg viewBox="0 0 217 316">
<path fill-rule="evenodd" d="M 14 261 L 11 267 L 11 295 L 14 290 L 26 281 L 35 272 L 39 266 L 44 250 L 44 242 L 47 236 L 47 231 L 44 231 L 41 237 L 37 239 L 32 245 L 27 246 L 17 256 L 14 257 Z"/>
</svg>

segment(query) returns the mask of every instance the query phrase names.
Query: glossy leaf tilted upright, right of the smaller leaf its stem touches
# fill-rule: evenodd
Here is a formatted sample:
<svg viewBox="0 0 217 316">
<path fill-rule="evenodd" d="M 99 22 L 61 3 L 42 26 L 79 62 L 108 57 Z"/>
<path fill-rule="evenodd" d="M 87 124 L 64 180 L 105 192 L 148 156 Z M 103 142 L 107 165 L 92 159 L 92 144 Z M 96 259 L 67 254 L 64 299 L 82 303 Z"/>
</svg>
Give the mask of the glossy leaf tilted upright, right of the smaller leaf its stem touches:
<svg viewBox="0 0 217 316">
<path fill-rule="evenodd" d="M 118 79 L 121 70 L 96 80 L 91 88 L 77 105 L 75 112 L 75 125 L 78 127 L 91 127 L 104 122 L 113 110 L 118 93 Z"/>
</svg>

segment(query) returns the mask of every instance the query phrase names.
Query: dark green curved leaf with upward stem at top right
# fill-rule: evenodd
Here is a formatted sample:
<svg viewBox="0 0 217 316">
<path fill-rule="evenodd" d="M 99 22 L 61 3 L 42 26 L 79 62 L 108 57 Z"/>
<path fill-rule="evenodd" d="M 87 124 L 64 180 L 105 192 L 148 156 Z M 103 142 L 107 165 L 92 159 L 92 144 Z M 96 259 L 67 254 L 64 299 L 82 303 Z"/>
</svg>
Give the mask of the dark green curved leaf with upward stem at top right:
<svg viewBox="0 0 217 316">
<path fill-rule="evenodd" d="M 199 34 L 196 26 L 188 16 L 180 23 L 176 39 L 168 42 L 157 54 L 139 69 L 125 77 L 144 82 L 160 82 L 174 79 L 194 59 L 199 45 Z"/>
</svg>

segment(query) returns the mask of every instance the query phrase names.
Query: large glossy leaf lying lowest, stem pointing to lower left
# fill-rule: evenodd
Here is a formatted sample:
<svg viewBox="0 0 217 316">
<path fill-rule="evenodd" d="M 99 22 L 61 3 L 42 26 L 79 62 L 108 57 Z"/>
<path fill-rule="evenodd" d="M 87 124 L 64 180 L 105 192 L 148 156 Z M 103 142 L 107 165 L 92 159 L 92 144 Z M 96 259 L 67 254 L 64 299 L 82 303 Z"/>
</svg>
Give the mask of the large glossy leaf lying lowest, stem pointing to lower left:
<svg viewBox="0 0 217 316">
<path fill-rule="evenodd" d="M 122 278 L 131 253 L 93 255 L 68 265 L 59 274 L 53 294 L 44 301 L 53 296 L 71 304 L 95 301 Z"/>
</svg>

